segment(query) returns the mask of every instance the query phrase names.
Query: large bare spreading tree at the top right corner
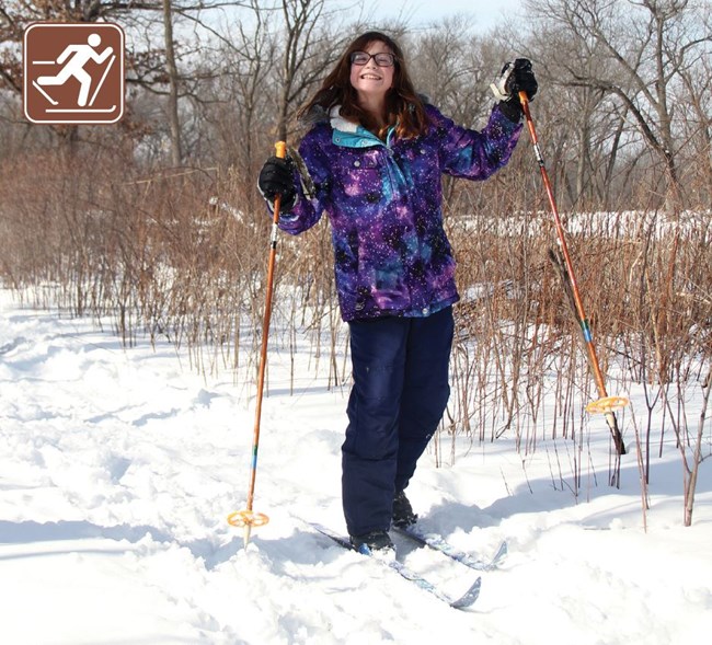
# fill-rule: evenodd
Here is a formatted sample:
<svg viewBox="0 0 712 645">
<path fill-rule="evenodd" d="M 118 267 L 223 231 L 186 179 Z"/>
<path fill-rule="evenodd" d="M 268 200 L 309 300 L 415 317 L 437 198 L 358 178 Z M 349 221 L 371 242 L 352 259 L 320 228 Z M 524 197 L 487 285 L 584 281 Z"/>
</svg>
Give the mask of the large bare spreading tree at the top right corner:
<svg viewBox="0 0 712 645">
<path fill-rule="evenodd" d="M 527 7 L 550 25 L 549 37 L 570 42 L 548 48 L 552 76 L 617 100 L 661 160 L 667 203 L 678 209 L 685 142 L 674 99 L 681 74 L 702 62 L 712 42 L 709 16 L 690 0 L 528 0 Z"/>
</svg>

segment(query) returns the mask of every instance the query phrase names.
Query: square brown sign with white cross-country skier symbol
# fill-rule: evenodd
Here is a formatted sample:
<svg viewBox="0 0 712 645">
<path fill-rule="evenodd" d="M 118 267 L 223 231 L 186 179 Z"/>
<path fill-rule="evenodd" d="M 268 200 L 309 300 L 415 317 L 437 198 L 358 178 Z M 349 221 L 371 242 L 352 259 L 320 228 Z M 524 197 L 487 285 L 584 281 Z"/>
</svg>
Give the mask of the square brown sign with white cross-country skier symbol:
<svg viewBox="0 0 712 645">
<path fill-rule="evenodd" d="M 111 23 L 34 23 L 23 44 L 25 116 L 112 124 L 124 116 L 124 32 Z"/>
</svg>

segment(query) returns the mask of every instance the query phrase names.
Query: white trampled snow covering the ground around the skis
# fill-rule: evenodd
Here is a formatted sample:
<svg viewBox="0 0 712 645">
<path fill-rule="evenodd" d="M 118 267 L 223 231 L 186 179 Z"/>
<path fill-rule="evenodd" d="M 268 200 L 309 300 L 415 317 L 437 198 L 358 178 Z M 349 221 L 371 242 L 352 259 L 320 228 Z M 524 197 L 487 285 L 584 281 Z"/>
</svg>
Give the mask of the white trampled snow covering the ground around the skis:
<svg viewBox="0 0 712 645">
<path fill-rule="evenodd" d="M 409 488 L 425 528 L 483 555 L 501 540 L 509 545 L 502 567 L 482 574 L 478 602 L 458 611 L 299 519 L 344 530 L 348 392 L 328 388 L 305 344 L 290 395 L 290 356 L 275 345 L 254 503 L 271 521 L 244 549 L 226 518 L 246 503 L 254 385 L 238 384 L 229 370 L 198 375 L 168 343 L 123 348 L 90 321 L 30 310 L 0 291 L 0 642 L 363 645 L 447 635 L 497 645 L 669 645 L 709 637 L 710 459 L 693 526 L 685 528 L 679 452 L 668 445 L 654 458 L 644 531 L 634 451 L 623 458 L 620 488 L 606 485 L 602 422 L 590 422 L 593 468 L 577 496 L 563 440 L 522 456 L 507 436 L 485 445 L 460 438 L 455 462 L 440 468 L 429 451 Z M 634 448 L 632 429 L 623 429 Z M 449 452 L 450 439 L 443 441 Z M 451 596 L 476 577 L 439 554 L 399 546 L 407 566 Z"/>
</svg>

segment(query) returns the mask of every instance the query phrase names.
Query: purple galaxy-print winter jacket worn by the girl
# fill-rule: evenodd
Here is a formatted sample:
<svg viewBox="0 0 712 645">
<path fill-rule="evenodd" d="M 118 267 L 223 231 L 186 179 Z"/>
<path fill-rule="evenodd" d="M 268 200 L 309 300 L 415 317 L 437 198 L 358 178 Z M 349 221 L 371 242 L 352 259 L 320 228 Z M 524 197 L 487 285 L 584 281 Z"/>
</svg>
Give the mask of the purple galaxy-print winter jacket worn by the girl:
<svg viewBox="0 0 712 645">
<path fill-rule="evenodd" d="M 329 216 L 345 321 L 426 316 L 459 300 L 441 175 L 489 177 L 509 160 L 521 125 L 495 107 L 476 131 L 426 110 L 425 135 L 398 139 L 391 131 L 382 141 L 334 107 L 299 146 L 298 198 L 279 228 L 298 234 Z"/>
</svg>

